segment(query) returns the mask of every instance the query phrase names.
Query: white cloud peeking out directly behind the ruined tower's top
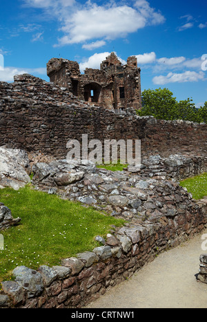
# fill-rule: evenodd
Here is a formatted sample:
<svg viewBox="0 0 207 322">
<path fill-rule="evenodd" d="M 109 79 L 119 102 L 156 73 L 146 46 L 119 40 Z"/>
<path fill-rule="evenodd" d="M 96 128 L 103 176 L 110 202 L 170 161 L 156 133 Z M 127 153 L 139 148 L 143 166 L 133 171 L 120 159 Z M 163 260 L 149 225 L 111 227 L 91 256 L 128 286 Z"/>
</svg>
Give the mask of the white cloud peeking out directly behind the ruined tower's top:
<svg viewBox="0 0 207 322">
<path fill-rule="evenodd" d="M 79 64 L 81 73 L 83 73 L 83 70 L 85 70 L 86 68 L 99 69 L 101 62 L 105 60 L 108 55 L 110 55 L 110 53 L 105 52 L 99 54 L 95 53 L 94 55 L 90 56 L 86 61 L 83 61 Z M 118 57 L 118 59 L 122 64 L 126 64 L 126 61 L 124 59 L 121 59 L 120 57 Z"/>
</svg>

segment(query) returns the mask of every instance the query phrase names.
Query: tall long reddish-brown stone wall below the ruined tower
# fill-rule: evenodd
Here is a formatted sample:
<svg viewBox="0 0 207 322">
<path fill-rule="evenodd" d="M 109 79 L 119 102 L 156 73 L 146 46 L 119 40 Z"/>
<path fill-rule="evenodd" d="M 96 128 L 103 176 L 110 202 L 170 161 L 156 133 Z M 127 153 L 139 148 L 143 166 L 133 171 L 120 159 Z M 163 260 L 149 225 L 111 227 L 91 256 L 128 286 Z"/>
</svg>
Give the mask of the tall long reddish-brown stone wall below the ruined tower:
<svg viewBox="0 0 207 322">
<path fill-rule="evenodd" d="M 117 114 L 31 75 L 0 82 L 0 145 L 66 158 L 69 139 L 140 139 L 143 157 L 206 155 L 207 125 Z"/>
</svg>

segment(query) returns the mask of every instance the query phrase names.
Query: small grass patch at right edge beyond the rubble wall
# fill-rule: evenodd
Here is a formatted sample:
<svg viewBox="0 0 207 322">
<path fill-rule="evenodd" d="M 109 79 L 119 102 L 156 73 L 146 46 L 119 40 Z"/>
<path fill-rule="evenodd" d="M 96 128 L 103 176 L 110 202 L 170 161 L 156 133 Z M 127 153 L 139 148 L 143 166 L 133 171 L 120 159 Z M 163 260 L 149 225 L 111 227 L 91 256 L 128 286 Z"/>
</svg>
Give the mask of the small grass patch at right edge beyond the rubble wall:
<svg viewBox="0 0 207 322">
<path fill-rule="evenodd" d="M 180 182 L 181 187 L 186 187 L 195 200 L 207 196 L 207 173 Z"/>
</svg>

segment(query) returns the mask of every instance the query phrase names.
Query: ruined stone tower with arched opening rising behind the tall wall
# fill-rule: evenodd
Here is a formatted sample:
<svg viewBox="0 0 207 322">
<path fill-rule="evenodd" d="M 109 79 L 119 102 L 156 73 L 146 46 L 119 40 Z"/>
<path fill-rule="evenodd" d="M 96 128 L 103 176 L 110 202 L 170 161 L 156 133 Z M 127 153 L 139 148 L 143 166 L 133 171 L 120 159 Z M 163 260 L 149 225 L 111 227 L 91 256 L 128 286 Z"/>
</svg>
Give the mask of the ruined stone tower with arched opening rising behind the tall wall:
<svg viewBox="0 0 207 322">
<path fill-rule="evenodd" d="M 102 61 L 100 69 L 86 68 L 81 74 L 77 61 L 52 58 L 47 64 L 50 82 L 68 88 L 80 100 L 104 108 L 141 108 L 140 68 L 137 58 L 128 57 L 122 65 L 115 53 Z"/>
</svg>

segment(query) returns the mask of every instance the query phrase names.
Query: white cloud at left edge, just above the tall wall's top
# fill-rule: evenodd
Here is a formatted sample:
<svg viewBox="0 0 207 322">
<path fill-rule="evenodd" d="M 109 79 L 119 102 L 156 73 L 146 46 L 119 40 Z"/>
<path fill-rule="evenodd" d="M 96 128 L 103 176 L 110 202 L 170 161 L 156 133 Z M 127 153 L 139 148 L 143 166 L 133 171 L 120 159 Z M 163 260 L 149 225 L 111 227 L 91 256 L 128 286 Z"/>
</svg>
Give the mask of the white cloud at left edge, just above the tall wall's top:
<svg viewBox="0 0 207 322">
<path fill-rule="evenodd" d="M 46 68 L 6 67 L 0 70 L 0 82 L 14 82 L 14 75 L 22 74 L 46 75 Z"/>
</svg>

